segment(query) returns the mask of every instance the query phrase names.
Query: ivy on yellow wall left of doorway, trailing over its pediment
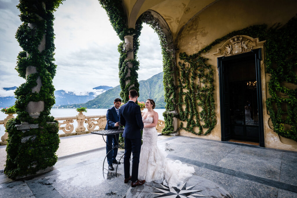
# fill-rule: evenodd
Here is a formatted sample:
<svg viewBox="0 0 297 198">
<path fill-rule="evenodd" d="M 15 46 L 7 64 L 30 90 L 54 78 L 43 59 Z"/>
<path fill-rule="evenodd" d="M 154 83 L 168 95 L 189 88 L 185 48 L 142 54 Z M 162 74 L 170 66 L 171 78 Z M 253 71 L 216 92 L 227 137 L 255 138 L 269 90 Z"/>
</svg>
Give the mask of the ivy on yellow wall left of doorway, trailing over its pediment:
<svg viewBox="0 0 297 198">
<path fill-rule="evenodd" d="M 204 58 L 201 54 L 210 50 L 212 46 L 235 35 L 250 35 L 254 38 L 263 38 L 266 35 L 266 28 L 266 25 L 258 25 L 233 31 L 211 42 L 198 53 L 189 56 L 186 53 L 179 54 L 179 59 L 183 62 L 178 63 L 179 69 L 176 74 L 179 88 L 177 105 L 179 119 L 186 121 L 187 125 L 184 126 L 181 123 L 178 130 L 184 129 L 196 135 L 207 135 L 217 123 L 213 96 L 214 70 L 211 65 L 205 63 L 208 58 Z M 207 130 L 203 132 L 203 129 Z"/>
</svg>

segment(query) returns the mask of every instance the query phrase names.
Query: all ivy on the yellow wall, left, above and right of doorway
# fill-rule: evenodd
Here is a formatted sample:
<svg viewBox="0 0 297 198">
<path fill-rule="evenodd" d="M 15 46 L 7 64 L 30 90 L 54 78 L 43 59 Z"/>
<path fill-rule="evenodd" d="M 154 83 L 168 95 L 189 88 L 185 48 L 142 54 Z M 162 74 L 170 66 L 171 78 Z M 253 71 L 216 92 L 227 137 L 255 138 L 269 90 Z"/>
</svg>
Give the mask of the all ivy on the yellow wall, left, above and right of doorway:
<svg viewBox="0 0 297 198">
<path fill-rule="evenodd" d="M 187 56 L 180 54 L 183 63 L 179 63 L 180 71 L 177 73 L 179 89 L 178 107 L 181 121 L 187 121 L 187 126 L 181 123 L 180 129 L 194 134 L 203 134 L 202 129 L 208 128 L 206 135 L 214 128 L 214 99 L 212 75 L 210 65 L 205 64 L 206 58 L 201 56 L 214 45 L 235 35 L 248 35 L 260 40 L 266 40 L 265 64 L 266 72 L 270 73 L 269 94 L 266 105 L 274 131 L 293 140 L 297 140 L 297 19 L 292 18 L 287 24 L 277 24 L 271 28 L 267 25 L 256 25 L 233 31 L 216 39 L 198 53 Z M 292 84 L 290 84 L 292 83 Z M 203 86 L 201 86 L 201 84 Z M 292 86 L 293 85 L 293 86 Z M 287 86 L 287 87 L 286 87 Z M 184 91 L 187 90 L 187 91 Z M 185 108 L 182 107 L 185 106 Z M 199 112 L 198 107 L 202 110 Z M 204 125 L 201 126 L 201 122 Z M 287 129 L 285 129 L 287 126 Z M 197 133 L 194 127 L 198 127 Z"/>
</svg>

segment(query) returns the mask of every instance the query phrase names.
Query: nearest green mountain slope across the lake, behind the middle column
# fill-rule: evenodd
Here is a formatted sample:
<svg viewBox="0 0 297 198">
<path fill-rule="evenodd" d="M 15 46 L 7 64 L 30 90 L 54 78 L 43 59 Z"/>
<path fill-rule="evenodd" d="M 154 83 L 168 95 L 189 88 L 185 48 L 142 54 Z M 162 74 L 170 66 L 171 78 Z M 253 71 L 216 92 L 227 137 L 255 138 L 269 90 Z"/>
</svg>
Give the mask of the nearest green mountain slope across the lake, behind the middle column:
<svg viewBox="0 0 297 198">
<path fill-rule="evenodd" d="M 86 103 L 63 105 L 63 108 L 77 108 L 87 107 L 91 109 L 107 109 L 112 107 L 115 98 L 120 97 L 120 85 L 105 91 L 98 95 L 96 98 L 89 100 Z M 145 102 L 146 99 L 153 99 L 156 103 L 156 109 L 165 108 L 164 102 L 164 86 L 163 86 L 163 72 L 150 77 L 147 80 L 139 81 L 139 97 L 138 101 Z"/>
</svg>

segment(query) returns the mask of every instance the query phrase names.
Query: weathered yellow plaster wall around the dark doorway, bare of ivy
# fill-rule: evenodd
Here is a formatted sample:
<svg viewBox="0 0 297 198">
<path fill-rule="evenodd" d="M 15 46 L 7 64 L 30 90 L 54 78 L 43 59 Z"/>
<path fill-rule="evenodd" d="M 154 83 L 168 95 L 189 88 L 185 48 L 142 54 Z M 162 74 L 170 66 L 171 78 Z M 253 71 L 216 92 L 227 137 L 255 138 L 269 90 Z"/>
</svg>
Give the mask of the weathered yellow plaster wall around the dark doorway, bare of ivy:
<svg viewBox="0 0 297 198">
<path fill-rule="evenodd" d="M 185 52 L 188 55 L 197 53 L 200 49 L 209 45 L 215 39 L 234 30 L 240 30 L 251 25 L 260 25 L 263 23 L 266 23 L 268 26 L 272 26 L 274 23 L 285 24 L 290 18 L 296 15 L 296 7 L 297 1 L 218 1 L 189 21 L 184 27 L 177 39 L 176 44 L 179 50 L 176 53 L 176 57 L 178 57 L 180 52 Z M 203 56 L 209 58 L 207 64 L 211 64 L 214 71 L 217 70 L 217 58 L 213 53 L 217 52 L 217 48 L 221 47 L 224 42 L 225 41 L 222 41 L 220 44 L 212 47 L 208 53 L 203 54 Z M 177 62 L 178 61 L 180 60 L 177 58 Z M 292 145 L 294 144 L 294 141 L 288 143 L 285 140 L 282 140 L 281 142 L 279 136 L 268 126 L 269 115 L 267 115 L 265 101 L 268 94 L 267 82 L 269 81 L 269 76 L 264 73 L 264 70 L 265 66 L 262 69 L 265 146 L 269 148 L 297 151 L 297 145 Z M 181 130 L 181 135 L 221 140 L 218 72 L 214 73 L 214 86 L 217 124 L 211 134 L 197 136 Z M 185 124 L 186 123 L 184 123 L 184 126 Z"/>
</svg>

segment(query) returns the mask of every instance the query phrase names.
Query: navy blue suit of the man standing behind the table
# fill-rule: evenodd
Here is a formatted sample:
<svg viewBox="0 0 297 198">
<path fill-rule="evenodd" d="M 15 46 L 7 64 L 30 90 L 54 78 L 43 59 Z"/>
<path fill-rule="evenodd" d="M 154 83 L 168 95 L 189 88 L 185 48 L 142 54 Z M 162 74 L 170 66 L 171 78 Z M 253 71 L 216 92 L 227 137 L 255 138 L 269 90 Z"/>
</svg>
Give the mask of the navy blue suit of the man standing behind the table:
<svg viewBox="0 0 297 198">
<path fill-rule="evenodd" d="M 119 129 L 118 126 L 114 126 L 116 122 L 120 121 L 120 109 L 119 115 L 116 113 L 116 108 L 113 106 L 107 110 L 106 113 L 106 126 L 105 130 L 107 129 Z M 119 134 L 116 135 L 107 135 L 106 136 L 106 154 L 112 149 L 112 147 L 115 147 L 118 145 L 119 142 Z M 113 146 L 111 146 L 113 145 Z M 118 148 L 114 148 L 113 151 L 110 151 L 107 155 L 107 163 L 112 164 L 113 160 L 116 160 L 116 155 L 118 153 Z"/>
</svg>

